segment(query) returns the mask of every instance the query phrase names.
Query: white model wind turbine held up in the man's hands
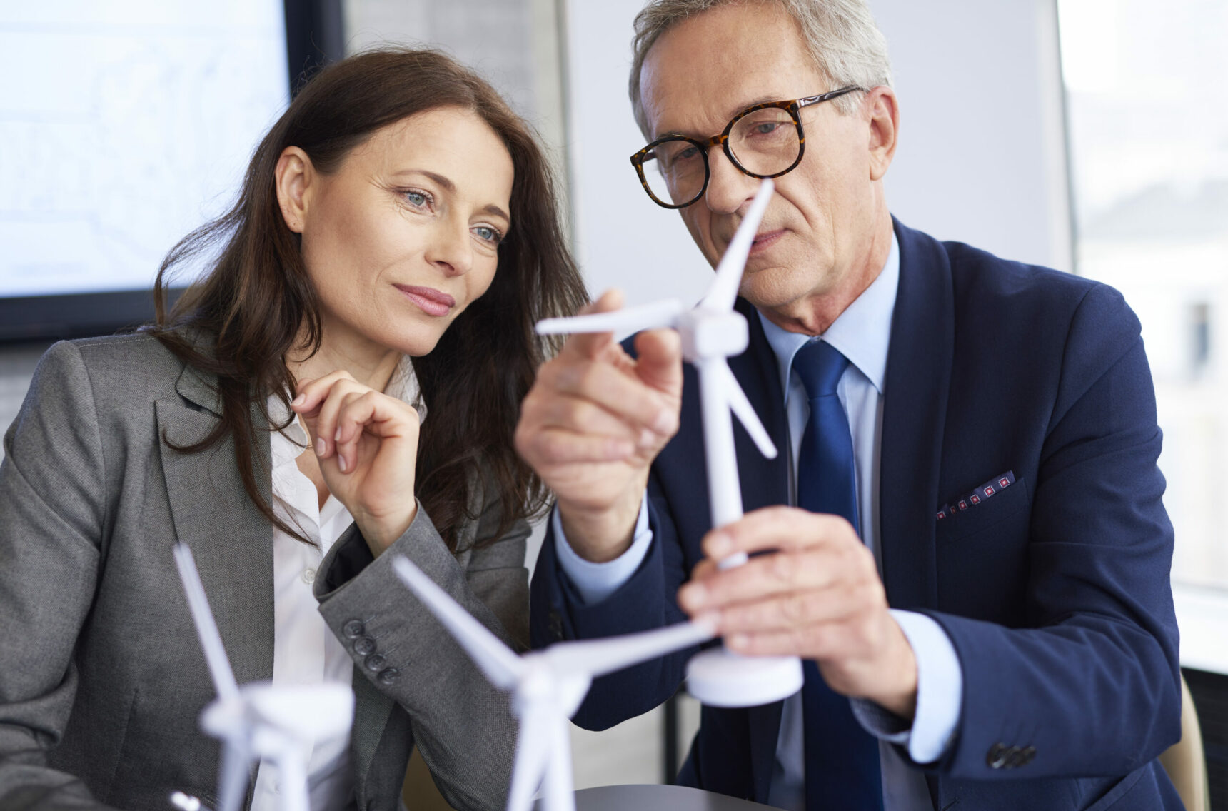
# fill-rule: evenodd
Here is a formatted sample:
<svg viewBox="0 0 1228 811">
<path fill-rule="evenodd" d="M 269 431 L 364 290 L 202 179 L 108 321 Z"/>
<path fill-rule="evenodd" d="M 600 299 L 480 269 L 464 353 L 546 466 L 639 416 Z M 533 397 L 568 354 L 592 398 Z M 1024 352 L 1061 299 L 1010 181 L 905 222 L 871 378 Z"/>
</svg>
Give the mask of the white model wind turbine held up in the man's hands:
<svg viewBox="0 0 1228 811">
<path fill-rule="evenodd" d="M 542 335 L 576 332 L 636 332 L 672 327 L 683 339 L 683 356 L 699 372 L 700 409 L 704 417 L 704 450 L 707 455 L 709 504 L 712 526 L 722 527 L 742 517 L 742 487 L 733 446 L 731 413 L 768 458 L 776 446 L 759 421 L 750 401 L 729 371 L 728 358 L 740 355 L 749 343 L 747 319 L 733 308 L 755 231 L 763 220 L 774 184 L 764 178 L 729 247 L 716 265 L 707 295 L 694 310 L 673 300 L 616 312 L 538 322 Z M 722 569 L 742 565 L 745 553 L 729 555 Z M 802 688 L 802 662 L 796 656 L 743 657 L 723 648 L 705 650 L 686 666 L 686 689 L 711 707 L 755 707 L 780 700 Z"/>
</svg>

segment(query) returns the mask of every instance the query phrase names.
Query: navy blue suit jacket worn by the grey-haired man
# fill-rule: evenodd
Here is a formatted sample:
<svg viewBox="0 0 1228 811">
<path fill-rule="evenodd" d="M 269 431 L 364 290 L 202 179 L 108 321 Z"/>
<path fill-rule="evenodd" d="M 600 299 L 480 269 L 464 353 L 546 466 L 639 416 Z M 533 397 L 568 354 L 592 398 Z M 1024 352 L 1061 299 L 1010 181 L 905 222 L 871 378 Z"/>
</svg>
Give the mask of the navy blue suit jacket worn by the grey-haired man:
<svg viewBox="0 0 1228 811">
<path fill-rule="evenodd" d="M 892 607 L 943 627 L 964 677 L 949 751 L 917 766 L 935 807 L 1179 809 L 1156 761 L 1180 737 L 1180 689 L 1173 528 L 1138 321 L 1103 284 L 899 222 L 895 233 L 883 582 Z M 775 356 L 750 306 L 738 307 L 750 345 L 729 365 L 776 446 L 787 447 Z M 688 365 L 682 428 L 652 468 L 650 553 L 614 595 L 586 606 L 548 537 L 533 579 L 535 646 L 684 619 L 675 592 L 710 528 L 701 431 Z M 787 504 L 783 455 L 765 460 L 740 426 L 736 434 L 747 511 Z M 936 519 L 941 505 L 1006 471 L 1013 485 Z M 605 729 L 662 703 L 691 654 L 598 680 L 576 724 Z M 780 703 L 704 708 L 680 782 L 765 802 L 780 716 Z M 1033 747 L 1034 757 L 1002 768 L 1003 747 Z"/>
</svg>

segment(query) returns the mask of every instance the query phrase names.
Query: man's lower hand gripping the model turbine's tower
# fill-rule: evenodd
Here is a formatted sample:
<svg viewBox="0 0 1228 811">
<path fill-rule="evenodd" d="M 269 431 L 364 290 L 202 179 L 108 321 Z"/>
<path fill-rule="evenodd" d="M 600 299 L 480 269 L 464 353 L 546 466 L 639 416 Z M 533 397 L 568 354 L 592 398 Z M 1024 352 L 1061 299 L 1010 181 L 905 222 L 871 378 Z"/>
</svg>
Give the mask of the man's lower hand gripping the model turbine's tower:
<svg viewBox="0 0 1228 811">
<path fill-rule="evenodd" d="M 769 554 L 717 569 L 734 552 Z M 888 613 L 874 557 L 847 521 L 766 507 L 709 532 L 704 553 L 678 602 L 711 616 L 731 650 L 813 659 L 837 693 L 912 718 L 916 659 Z"/>
</svg>

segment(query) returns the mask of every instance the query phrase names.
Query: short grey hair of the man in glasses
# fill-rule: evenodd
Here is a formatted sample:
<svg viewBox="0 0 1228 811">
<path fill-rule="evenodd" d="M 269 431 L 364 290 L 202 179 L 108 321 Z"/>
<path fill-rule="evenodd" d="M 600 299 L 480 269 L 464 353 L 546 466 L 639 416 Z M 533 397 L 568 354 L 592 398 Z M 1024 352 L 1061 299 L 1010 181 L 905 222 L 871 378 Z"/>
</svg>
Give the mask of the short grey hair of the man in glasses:
<svg viewBox="0 0 1228 811">
<path fill-rule="evenodd" d="M 892 84 L 892 60 L 887 55 L 887 38 L 874 25 L 866 0 L 651 0 L 635 17 L 635 38 L 631 41 L 631 108 L 646 138 L 648 122 L 640 97 L 640 74 L 648 50 L 661 34 L 683 20 L 709 9 L 731 2 L 775 2 L 802 32 L 815 66 L 831 82 L 831 87 L 807 88 L 820 92 L 855 85 L 869 90 Z M 831 100 L 842 113 L 851 113 L 860 103 L 860 93 Z"/>
</svg>

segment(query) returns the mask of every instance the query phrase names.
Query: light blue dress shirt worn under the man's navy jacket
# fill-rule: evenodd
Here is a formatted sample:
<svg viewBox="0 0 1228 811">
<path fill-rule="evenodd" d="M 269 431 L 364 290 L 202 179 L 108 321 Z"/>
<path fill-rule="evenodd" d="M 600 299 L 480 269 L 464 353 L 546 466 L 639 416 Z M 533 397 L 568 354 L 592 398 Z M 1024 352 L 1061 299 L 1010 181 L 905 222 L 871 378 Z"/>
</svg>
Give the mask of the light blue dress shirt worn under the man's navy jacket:
<svg viewBox="0 0 1228 811">
<path fill-rule="evenodd" d="M 892 315 L 899 288 L 899 245 L 892 235 L 892 251 L 878 278 L 840 313 L 822 338 L 787 332 L 761 315 L 764 334 L 780 364 L 780 378 L 787 381 L 782 396 L 788 415 L 790 504 L 797 504 L 797 455 L 809 419 L 809 402 L 801 378 L 792 374 L 793 355 L 810 340 L 826 340 L 850 360 L 836 386 L 836 396 L 849 415 L 857 479 L 858 521 L 862 541 L 873 550 L 882 571 L 878 538 L 879 458 L 883 429 L 883 383 L 890 344 Z M 652 543 L 647 501 L 641 501 L 631 547 L 608 563 L 585 560 L 572 550 L 562 533 L 558 510 L 554 517 L 555 552 L 564 573 L 588 605 L 614 594 L 642 563 Z M 937 761 L 959 724 L 963 673 L 959 657 L 942 627 L 925 614 L 892 611 L 917 660 L 917 707 L 912 726 L 873 702 L 852 700 L 853 715 L 882 741 L 883 799 L 887 811 L 922 811 L 932 807 L 925 777 L 910 768 L 890 746 L 901 745 L 917 763 Z M 780 736 L 768 801 L 780 809 L 806 807 L 806 753 L 801 693 L 785 699 Z"/>
</svg>

